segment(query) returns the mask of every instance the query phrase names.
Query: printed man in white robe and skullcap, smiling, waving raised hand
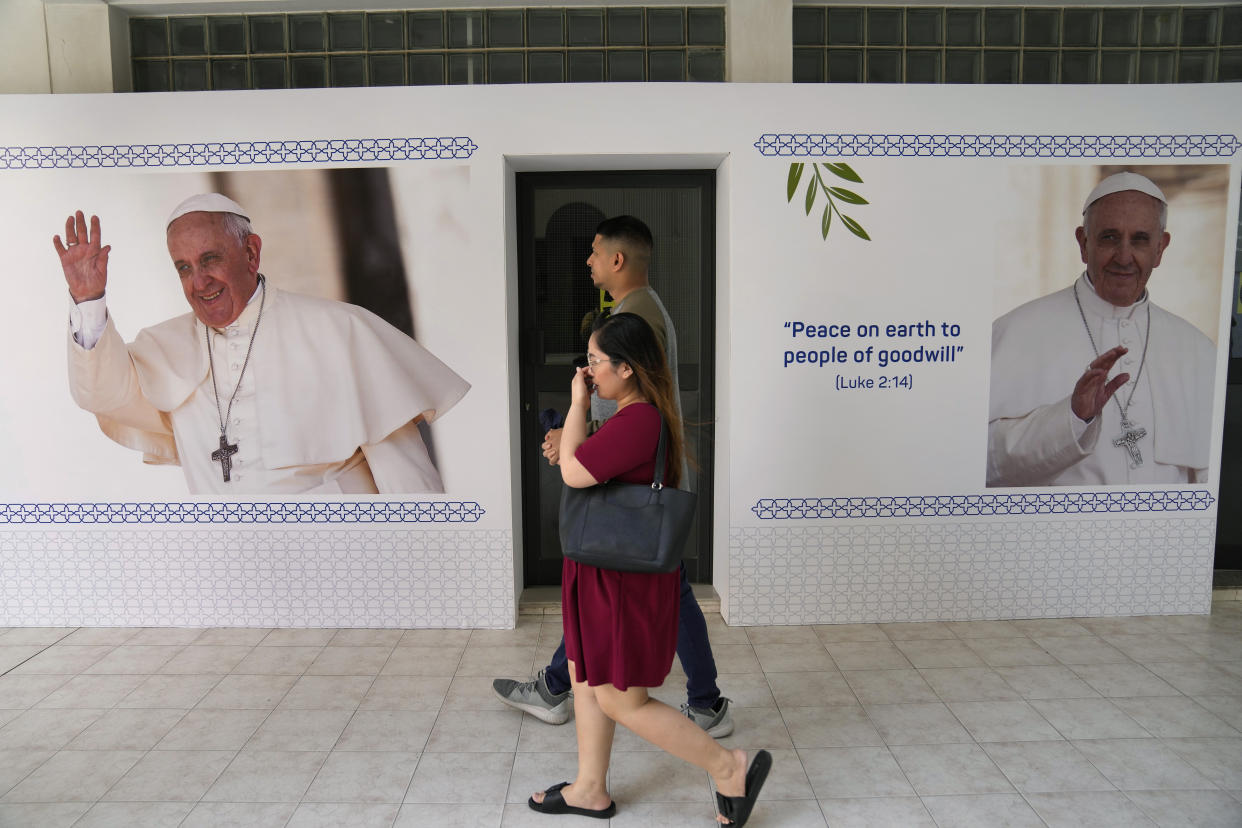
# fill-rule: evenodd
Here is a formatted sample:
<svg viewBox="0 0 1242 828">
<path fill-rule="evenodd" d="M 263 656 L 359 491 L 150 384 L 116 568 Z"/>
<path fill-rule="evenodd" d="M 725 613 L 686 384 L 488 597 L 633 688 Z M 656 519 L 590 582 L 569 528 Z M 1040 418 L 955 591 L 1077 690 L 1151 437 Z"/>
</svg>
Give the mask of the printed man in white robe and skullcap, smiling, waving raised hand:
<svg viewBox="0 0 1242 828">
<path fill-rule="evenodd" d="M 420 423 L 469 385 L 375 313 L 272 284 L 262 218 L 217 192 L 178 205 L 168 251 L 190 313 L 125 343 L 107 228 L 71 215 L 53 245 L 73 299 L 75 402 L 145 462 L 179 464 L 193 494 L 443 492 Z"/>
</svg>

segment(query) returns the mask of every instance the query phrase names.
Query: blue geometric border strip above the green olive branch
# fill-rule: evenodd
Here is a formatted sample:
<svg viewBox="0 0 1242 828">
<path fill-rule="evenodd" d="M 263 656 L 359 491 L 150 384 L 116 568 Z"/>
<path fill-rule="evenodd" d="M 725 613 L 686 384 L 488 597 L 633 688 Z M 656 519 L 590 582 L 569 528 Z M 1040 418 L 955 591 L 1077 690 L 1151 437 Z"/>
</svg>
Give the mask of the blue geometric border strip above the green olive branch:
<svg viewBox="0 0 1242 828">
<path fill-rule="evenodd" d="M 1242 148 L 1237 135 L 919 135 L 765 133 L 764 155 L 946 158 L 1225 158 Z"/>
</svg>

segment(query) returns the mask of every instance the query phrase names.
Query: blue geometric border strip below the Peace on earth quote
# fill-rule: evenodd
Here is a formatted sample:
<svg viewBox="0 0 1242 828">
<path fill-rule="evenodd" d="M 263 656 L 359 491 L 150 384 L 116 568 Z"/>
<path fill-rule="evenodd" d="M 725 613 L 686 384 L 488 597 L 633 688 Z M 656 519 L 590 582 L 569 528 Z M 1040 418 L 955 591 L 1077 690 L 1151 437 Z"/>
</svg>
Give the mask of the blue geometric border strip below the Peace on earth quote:
<svg viewBox="0 0 1242 828">
<path fill-rule="evenodd" d="M 850 518 L 987 518 L 1124 511 L 1203 511 L 1207 492 L 1042 492 L 1031 494 L 932 494 L 907 498 L 764 498 L 750 510 L 760 520 Z"/>
</svg>

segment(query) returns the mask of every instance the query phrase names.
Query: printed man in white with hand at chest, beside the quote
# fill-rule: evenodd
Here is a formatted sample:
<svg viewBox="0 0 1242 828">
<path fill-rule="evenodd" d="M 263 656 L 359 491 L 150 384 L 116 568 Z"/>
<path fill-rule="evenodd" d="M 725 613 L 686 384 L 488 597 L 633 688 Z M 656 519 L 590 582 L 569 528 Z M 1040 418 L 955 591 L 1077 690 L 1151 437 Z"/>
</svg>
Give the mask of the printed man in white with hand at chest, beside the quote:
<svg viewBox="0 0 1242 828">
<path fill-rule="evenodd" d="M 1192 279 L 1170 268 L 1151 279 L 1167 258 L 1169 201 L 1134 171 L 1100 180 L 1074 231 L 1086 269 L 992 324 L 989 487 L 1207 482 L 1216 345 L 1207 322 L 1196 326 L 1153 298 L 1180 299 Z M 1181 221 L 1194 246 L 1197 216 Z M 1216 256 L 1199 268 L 1205 295 L 1220 293 Z M 1216 319 L 1215 302 L 1202 320 Z"/>
</svg>

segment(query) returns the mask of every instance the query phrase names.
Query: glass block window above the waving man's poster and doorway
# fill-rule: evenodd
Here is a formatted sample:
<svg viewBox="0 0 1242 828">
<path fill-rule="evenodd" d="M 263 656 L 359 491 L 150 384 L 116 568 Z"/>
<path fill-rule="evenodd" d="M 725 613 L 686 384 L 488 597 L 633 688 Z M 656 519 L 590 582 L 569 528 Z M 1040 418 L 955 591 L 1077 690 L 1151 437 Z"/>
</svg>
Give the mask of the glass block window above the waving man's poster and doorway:
<svg viewBox="0 0 1242 828">
<path fill-rule="evenodd" d="M 723 6 L 263 12 L 129 19 L 135 92 L 446 83 L 719 82 L 724 81 L 724 30 Z M 876 58 L 872 63 L 873 71 L 887 78 L 899 72 L 892 61 L 886 63 Z"/>
</svg>

